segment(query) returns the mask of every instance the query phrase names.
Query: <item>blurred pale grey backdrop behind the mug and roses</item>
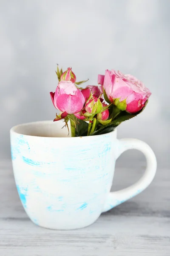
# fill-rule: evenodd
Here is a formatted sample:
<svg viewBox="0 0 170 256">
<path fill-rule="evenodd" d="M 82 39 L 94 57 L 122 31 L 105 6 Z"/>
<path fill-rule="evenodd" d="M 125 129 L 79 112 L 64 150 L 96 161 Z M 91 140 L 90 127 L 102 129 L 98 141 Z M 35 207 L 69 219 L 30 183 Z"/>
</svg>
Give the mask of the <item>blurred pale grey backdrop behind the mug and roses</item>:
<svg viewBox="0 0 170 256">
<path fill-rule="evenodd" d="M 0 1 L 0 159 L 10 159 L 9 130 L 23 122 L 54 119 L 49 92 L 57 63 L 77 80 L 97 84 L 105 69 L 142 80 L 152 96 L 118 137 L 144 140 L 160 166 L 170 154 L 169 0 Z M 129 157 L 130 155 L 130 157 Z M 119 163 L 138 163 L 124 153 Z M 124 161 L 126 160 L 126 162 Z"/>
</svg>

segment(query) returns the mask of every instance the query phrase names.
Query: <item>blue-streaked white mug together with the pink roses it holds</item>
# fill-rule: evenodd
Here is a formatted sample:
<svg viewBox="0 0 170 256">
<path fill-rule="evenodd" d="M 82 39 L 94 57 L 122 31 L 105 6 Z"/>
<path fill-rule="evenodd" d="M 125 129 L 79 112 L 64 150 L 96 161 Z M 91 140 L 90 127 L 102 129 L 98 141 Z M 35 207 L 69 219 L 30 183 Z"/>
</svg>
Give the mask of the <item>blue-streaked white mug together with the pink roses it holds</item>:
<svg viewBox="0 0 170 256">
<path fill-rule="evenodd" d="M 20 200 L 29 218 L 50 229 L 86 227 L 113 207 L 142 192 L 156 173 L 152 149 L 136 139 L 118 140 L 116 127 L 144 110 L 150 91 L 141 81 L 106 70 L 97 85 L 79 87 L 69 67 L 57 67 L 58 84 L 51 92 L 61 111 L 54 121 L 11 128 L 11 157 Z M 64 126 L 67 129 L 63 128 Z M 71 134 L 68 131 L 71 130 Z M 137 149 L 147 159 L 143 177 L 110 192 L 116 159 Z"/>
</svg>

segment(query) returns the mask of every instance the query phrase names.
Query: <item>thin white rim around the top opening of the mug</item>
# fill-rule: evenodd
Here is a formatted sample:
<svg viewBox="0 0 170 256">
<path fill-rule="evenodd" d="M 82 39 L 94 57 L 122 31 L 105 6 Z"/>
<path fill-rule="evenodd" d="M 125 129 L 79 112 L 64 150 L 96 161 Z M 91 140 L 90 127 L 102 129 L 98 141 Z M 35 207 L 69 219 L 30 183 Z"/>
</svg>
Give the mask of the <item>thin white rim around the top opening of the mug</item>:
<svg viewBox="0 0 170 256">
<path fill-rule="evenodd" d="M 59 122 L 59 121 L 57 121 Z M 18 127 L 22 127 L 24 125 L 33 125 L 33 124 L 38 124 L 38 123 L 54 123 L 53 120 L 41 120 L 41 121 L 34 121 L 34 122 L 27 122 L 27 123 L 22 123 L 22 124 L 19 124 L 19 125 L 14 125 L 11 129 L 10 129 L 10 134 L 13 133 L 13 134 L 17 134 L 17 135 L 23 135 L 25 137 L 36 137 L 36 138 L 43 138 L 43 139 L 78 139 L 78 138 L 92 138 L 92 137 L 102 137 L 103 135 L 105 134 L 98 134 L 98 135 L 91 135 L 91 136 L 78 136 L 78 137 L 45 137 L 45 136 L 37 136 L 37 135 L 28 135 L 28 134 L 22 134 L 22 133 L 19 133 L 17 131 L 15 131 L 15 129 L 17 129 Z M 110 131 L 106 134 L 113 134 L 113 133 L 117 133 L 117 128 L 115 128 L 113 131 Z"/>
</svg>

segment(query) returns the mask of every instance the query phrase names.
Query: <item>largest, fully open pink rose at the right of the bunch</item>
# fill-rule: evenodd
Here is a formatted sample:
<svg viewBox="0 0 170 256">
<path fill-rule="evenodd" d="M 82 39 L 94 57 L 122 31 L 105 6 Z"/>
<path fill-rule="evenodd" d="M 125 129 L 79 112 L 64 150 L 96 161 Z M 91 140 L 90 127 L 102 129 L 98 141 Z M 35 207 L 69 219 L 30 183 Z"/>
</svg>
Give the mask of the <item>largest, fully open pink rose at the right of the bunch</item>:
<svg viewBox="0 0 170 256">
<path fill-rule="evenodd" d="M 141 110 L 151 95 L 150 90 L 136 77 L 115 70 L 106 70 L 105 76 L 98 75 L 98 83 L 103 86 L 111 103 L 129 113 Z"/>
</svg>

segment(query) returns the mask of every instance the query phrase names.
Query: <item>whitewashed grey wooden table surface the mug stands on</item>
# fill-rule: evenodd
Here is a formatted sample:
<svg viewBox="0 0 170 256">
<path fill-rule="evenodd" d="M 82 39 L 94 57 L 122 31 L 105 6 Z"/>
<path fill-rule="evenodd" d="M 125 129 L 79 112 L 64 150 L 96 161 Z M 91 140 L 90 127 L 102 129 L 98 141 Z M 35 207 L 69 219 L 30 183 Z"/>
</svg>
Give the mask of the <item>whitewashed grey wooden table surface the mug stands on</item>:
<svg viewBox="0 0 170 256">
<path fill-rule="evenodd" d="M 138 168 L 116 168 L 113 189 L 136 181 Z M 80 230 L 48 230 L 27 217 L 10 161 L 0 162 L 0 256 L 170 256 L 170 171 L 158 168 L 140 195 Z"/>
</svg>

